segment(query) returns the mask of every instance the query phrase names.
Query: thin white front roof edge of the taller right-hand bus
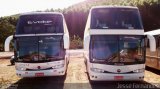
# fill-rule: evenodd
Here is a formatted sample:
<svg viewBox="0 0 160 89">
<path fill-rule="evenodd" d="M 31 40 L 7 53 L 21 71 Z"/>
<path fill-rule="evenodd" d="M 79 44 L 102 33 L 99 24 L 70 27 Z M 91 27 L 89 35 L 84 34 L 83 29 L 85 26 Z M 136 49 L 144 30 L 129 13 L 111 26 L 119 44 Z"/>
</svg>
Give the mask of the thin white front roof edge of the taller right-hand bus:
<svg viewBox="0 0 160 89">
<path fill-rule="evenodd" d="M 134 6 L 116 6 L 116 5 L 109 5 L 109 6 L 93 6 L 91 9 L 95 8 L 132 8 L 132 9 L 138 9 Z"/>
</svg>

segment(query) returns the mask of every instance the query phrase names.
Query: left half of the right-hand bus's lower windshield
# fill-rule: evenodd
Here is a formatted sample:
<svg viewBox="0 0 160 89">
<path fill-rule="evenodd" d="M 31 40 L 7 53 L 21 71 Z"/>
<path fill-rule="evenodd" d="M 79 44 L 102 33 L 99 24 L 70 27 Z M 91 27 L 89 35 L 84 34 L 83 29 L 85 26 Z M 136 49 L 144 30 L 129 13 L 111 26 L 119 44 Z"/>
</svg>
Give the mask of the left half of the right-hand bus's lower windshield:
<svg viewBox="0 0 160 89">
<path fill-rule="evenodd" d="M 91 54 L 99 60 L 106 60 L 118 52 L 118 39 L 115 36 L 92 36 Z"/>
</svg>

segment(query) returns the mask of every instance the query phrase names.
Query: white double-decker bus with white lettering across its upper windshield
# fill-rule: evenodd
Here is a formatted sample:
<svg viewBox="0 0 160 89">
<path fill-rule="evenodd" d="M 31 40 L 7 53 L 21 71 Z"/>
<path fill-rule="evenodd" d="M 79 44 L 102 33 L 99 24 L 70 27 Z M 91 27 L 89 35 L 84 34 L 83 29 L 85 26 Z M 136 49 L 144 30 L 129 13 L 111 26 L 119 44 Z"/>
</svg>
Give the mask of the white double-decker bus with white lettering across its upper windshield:
<svg viewBox="0 0 160 89">
<path fill-rule="evenodd" d="M 69 33 L 61 13 L 22 14 L 13 39 L 18 76 L 65 75 L 68 63 Z"/>
</svg>

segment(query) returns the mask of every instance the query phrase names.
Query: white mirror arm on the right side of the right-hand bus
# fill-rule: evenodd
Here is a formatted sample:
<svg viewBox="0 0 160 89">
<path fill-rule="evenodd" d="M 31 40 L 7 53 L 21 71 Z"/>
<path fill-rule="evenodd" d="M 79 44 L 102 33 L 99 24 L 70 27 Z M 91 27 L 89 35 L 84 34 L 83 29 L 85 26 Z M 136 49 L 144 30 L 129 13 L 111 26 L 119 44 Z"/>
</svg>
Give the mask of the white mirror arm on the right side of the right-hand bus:
<svg viewBox="0 0 160 89">
<path fill-rule="evenodd" d="M 147 38 L 149 39 L 150 51 L 156 51 L 156 41 L 153 35 L 147 34 Z"/>
</svg>

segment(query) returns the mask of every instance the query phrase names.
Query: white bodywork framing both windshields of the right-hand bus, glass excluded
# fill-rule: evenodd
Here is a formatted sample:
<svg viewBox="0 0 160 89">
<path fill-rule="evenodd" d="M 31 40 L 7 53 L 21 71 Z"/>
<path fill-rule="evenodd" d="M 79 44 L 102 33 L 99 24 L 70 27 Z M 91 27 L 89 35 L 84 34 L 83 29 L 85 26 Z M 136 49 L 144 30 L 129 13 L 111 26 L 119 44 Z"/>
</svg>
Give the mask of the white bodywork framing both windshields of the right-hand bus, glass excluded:
<svg viewBox="0 0 160 89">
<path fill-rule="evenodd" d="M 117 6 L 96 6 L 94 8 L 114 8 Z M 137 8 L 137 7 L 126 7 L 126 6 L 118 6 L 118 8 Z M 90 44 L 90 36 L 91 35 L 144 35 L 144 29 L 90 29 L 91 23 L 91 11 L 89 12 L 85 32 L 84 32 L 84 57 L 87 67 L 87 72 L 89 74 L 90 80 L 93 81 L 118 81 L 115 77 L 123 77 L 122 80 L 143 80 L 144 71 L 140 73 L 127 73 L 131 71 L 136 71 L 137 69 L 145 69 L 145 64 L 133 64 L 133 65 L 124 65 L 124 66 L 116 66 L 116 65 L 107 65 L 107 64 L 98 64 L 98 63 L 90 63 L 89 60 L 89 44 Z M 138 8 L 137 8 L 138 9 Z M 101 70 L 108 71 L 109 73 L 98 73 L 93 72 L 91 68 L 98 68 Z M 121 73 L 117 73 L 117 69 L 121 70 Z"/>
</svg>

